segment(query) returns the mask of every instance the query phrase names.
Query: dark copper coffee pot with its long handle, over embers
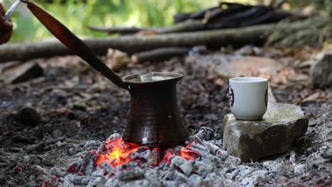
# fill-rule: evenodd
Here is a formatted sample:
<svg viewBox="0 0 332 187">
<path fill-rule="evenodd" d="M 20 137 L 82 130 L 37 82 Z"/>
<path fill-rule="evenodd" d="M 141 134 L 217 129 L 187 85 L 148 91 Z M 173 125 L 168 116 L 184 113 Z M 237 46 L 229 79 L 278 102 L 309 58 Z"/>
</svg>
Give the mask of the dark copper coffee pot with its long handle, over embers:
<svg viewBox="0 0 332 187">
<path fill-rule="evenodd" d="M 176 84 L 182 74 L 134 74 L 121 79 L 60 21 L 32 1 L 21 0 L 63 44 L 116 86 L 131 94 L 131 111 L 123 140 L 142 145 L 171 147 L 184 142 L 189 132 L 177 108 Z"/>
</svg>

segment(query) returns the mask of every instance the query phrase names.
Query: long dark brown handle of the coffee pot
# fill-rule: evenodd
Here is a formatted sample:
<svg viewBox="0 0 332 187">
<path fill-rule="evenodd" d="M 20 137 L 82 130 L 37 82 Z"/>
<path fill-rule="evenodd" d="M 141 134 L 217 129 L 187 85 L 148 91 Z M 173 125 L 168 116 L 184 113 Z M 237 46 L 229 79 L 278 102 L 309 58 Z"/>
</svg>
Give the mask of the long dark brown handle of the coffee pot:
<svg viewBox="0 0 332 187">
<path fill-rule="evenodd" d="M 91 67 L 96 69 L 96 71 L 103 74 L 107 79 L 111 80 L 116 86 L 123 89 L 128 89 L 128 86 L 123 82 L 123 80 L 118 77 L 118 75 L 109 67 L 106 66 L 101 60 L 99 60 L 92 50 L 87 47 L 87 45 L 82 42 L 76 35 L 74 35 L 66 26 L 64 26 L 60 21 L 51 16 L 47 11 L 38 6 L 37 4 L 26 1 L 29 10 L 35 15 L 36 18 L 43 23 L 45 28 L 50 30 L 58 40 L 74 51 L 79 57 L 81 57 L 85 62 L 87 62 Z"/>
</svg>

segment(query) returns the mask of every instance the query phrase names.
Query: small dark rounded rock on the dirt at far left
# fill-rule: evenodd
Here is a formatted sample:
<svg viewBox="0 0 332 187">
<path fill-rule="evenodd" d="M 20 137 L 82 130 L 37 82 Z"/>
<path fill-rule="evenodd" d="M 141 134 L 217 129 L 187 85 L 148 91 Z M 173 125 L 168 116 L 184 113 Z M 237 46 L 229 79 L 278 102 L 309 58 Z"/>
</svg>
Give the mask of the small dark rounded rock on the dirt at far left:
<svg viewBox="0 0 332 187">
<path fill-rule="evenodd" d="M 34 108 L 24 107 L 18 113 L 18 119 L 24 125 L 38 125 L 40 123 L 40 115 Z"/>
</svg>

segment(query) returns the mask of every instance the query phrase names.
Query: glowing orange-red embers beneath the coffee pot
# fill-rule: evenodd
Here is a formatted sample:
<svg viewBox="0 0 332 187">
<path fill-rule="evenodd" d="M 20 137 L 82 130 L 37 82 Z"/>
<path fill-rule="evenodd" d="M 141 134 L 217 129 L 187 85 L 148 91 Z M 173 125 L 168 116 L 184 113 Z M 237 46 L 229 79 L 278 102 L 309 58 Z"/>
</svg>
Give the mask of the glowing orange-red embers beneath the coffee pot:
<svg viewBox="0 0 332 187">
<path fill-rule="evenodd" d="M 127 143 L 124 142 L 121 137 L 117 137 L 114 139 L 106 140 L 104 147 L 102 147 L 99 152 L 96 153 L 97 157 L 96 161 L 94 162 L 94 166 L 99 166 L 103 162 L 107 162 L 116 168 L 116 166 L 121 166 L 128 162 L 133 162 L 138 160 L 137 158 L 132 157 L 133 153 L 140 152 L 141 149 L 150 149 L 150 151 L 157 152 L 158 156 L 163 155 L 162 159 L 160 159 L 161 162 L 167 162 L 169 164 L 170 157 L 174 154 L 187 160 L 197 159 L 200 157 L 198 152 L 190 149 L 190 144 L 187 144 L 186 147 L 182 147 L 179 152 L 171 152 L 167 149 L 166 151 L 163 151 L 162 154 L 160 154 L 160 149 L 157 147 L 149 148 L 135 143 Z"/>
</svg>

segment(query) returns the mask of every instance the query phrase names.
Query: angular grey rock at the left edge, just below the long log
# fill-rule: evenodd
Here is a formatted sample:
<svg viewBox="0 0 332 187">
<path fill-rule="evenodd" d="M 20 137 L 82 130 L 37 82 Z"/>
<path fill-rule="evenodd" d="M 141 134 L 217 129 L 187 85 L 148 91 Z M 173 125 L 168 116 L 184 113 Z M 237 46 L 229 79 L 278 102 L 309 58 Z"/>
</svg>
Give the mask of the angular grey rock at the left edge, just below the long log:
<svg viewBox="0 0 332 187">
<path fill-rule="evenodd" d="M 7 84 L 16 84 L 41 77 L 43 74 L 44 70 L 38 63 L 26 62 L 5 69 L 4 72 L 1 73 L 0 79 L 4 79 Z"/>
</svg>

